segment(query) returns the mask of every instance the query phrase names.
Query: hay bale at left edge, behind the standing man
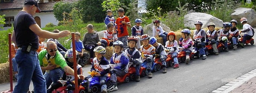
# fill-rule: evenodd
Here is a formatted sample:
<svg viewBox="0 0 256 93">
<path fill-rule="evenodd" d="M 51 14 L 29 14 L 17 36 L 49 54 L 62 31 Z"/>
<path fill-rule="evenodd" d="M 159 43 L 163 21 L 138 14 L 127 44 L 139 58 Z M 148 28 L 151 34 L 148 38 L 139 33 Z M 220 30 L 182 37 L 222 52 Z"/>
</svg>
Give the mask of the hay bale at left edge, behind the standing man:
<svg viewBox="0 0 256 93">
<path fill-rule="evenodd" d="M 0 84 L 10 82 L 9 62 L 0 64 Z"/>
</svg>

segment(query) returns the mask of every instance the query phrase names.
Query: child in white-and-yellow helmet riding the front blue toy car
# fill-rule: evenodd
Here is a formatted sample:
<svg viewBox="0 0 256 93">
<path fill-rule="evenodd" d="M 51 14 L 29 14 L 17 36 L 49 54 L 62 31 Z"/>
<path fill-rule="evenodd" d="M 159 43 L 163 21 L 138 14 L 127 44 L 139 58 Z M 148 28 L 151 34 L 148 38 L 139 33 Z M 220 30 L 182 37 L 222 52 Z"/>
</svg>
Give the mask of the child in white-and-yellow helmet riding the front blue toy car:
<svg viewBox="0 0 256 93">
<path fill-rule="evenodd" d="M 104 57 L 106 49 L 102 46 L 94 48 L 95 57 L 92 62 L 91 72 L 96 72 L 97 77 L 100 77 L 101 93 L 107 93 L 106 79 L 110 70 L 109 62 Z"/>
</svg>

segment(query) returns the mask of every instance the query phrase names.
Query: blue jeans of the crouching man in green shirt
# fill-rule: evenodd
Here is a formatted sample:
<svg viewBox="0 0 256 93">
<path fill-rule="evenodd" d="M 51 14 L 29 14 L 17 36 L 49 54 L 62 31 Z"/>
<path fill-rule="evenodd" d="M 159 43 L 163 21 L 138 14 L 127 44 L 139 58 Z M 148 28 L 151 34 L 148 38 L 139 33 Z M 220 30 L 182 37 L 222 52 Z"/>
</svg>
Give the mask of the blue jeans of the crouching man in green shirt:
<svg viewBox="0 0 256 93">
<path fill-rule="evenodd" d="M 44 78 L 46 80 L 46 89 L 53 83 L 57 83 L 58 79 L 63 77 L 64 70 L 60 67 L 50 70 L 50 72 L 44 73 Z"/>
</svg>

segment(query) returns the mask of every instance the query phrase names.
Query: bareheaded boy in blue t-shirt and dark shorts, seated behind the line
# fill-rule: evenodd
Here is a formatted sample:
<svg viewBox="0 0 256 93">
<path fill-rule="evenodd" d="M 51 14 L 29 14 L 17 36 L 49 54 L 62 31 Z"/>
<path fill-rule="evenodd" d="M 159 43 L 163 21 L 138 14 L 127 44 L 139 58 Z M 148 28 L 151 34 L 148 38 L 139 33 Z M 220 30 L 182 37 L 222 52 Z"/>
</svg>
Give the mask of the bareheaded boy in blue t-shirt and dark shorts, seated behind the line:
<svg viewBox="0 0 256 93">
<path fill-rule="evenodd" d="M 79 60 L 78 64 L 81 65 L 82 67 L 84 67 L 84 65 L 89 64 L 89 53 L 84 52 L 84 44 L 83 42 L 80 40 L 80 36 L 81 34 L 79 32 L 75 33 L 75 45 L 76 45 L 76 51 L 78 51 L 78 55 L 79 58 L 81 60 Z M 71 46 L 70 48 L 72 48 L 72 42 L 71 42 Z"/>
</svg>

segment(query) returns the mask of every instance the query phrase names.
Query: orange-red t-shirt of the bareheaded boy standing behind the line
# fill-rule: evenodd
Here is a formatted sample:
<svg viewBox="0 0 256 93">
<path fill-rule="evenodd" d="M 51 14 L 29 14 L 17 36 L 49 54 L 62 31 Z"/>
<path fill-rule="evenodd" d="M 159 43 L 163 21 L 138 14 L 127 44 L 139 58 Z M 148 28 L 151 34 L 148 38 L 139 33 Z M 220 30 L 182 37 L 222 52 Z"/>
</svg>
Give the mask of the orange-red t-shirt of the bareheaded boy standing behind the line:
<svg viewBox="0 0 256 93">
<path fill-rule="evenodd" d="M 123 37 L 123 36 L 128 36 L 128 30 L 127 30 L 127 26 L 125 24 L 122 24 L 122 21 L 130 24 L 130 20 L 128 17 L 124 16 L 124 17 L 119 17 L 116 19 L 116 23 L 115 25 L 117 26 L 117 31 L 118 31 L 118 35 L 117 37 Z"/>
</svg>

